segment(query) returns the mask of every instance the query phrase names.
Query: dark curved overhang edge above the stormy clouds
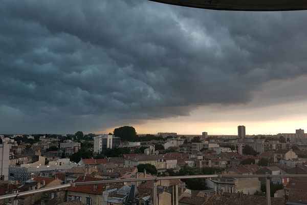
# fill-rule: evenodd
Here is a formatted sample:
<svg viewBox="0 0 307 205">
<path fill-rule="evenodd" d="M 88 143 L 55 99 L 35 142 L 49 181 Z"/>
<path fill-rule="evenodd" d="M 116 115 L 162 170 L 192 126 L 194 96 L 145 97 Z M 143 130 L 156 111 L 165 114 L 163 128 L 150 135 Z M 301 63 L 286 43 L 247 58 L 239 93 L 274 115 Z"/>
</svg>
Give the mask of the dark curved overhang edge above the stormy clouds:
<svg viewBox="0 0 307 205">
<path fill-rule="evenodd" d="M 229 11 L 307 10 L 307 0 L 149 0 L 164 4 Z"/>
</svg>

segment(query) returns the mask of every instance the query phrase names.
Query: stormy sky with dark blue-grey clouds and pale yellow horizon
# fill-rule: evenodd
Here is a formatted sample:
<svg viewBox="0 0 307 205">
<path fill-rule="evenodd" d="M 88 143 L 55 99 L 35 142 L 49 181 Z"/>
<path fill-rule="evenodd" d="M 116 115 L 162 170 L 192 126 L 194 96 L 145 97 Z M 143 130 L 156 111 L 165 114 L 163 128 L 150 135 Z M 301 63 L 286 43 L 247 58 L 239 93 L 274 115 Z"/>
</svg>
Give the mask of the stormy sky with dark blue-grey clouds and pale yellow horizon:
<svg viewBox="0 0 307 205">
<path fill-rule="evenodd" d="M 0 133 L 307 130 L 305 11 L 0 4 Z"/>
</svg>

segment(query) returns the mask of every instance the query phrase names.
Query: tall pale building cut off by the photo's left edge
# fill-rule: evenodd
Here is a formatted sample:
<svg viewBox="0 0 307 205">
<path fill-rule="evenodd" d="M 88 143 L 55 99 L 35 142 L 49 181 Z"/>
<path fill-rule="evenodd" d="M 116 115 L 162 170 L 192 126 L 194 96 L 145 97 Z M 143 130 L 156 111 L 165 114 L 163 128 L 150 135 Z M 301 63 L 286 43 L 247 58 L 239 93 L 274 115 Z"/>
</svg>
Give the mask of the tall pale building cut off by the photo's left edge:
<svg viewBox="0 0 307 205">
<path fill-rule="evenodd" d="M 10 145 L 0 144 L 0 180 L 8 180 Z"/>
</svg>

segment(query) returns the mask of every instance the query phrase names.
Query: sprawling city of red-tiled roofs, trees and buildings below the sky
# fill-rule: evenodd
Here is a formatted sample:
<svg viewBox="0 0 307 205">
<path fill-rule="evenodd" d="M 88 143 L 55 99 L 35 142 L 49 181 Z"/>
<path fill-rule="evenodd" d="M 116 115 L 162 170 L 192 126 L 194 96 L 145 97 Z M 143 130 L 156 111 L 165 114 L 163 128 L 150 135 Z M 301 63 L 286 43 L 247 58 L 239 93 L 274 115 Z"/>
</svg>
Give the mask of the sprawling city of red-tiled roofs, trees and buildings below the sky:
<svg viewBox="0 0 307 205">
<path fill-rule="evenodd" d="M 265 174 L 280 175 L 269 179 L 272 204 L 303 204 L 307 180 L 293 175 L 307 174 L 304 130 L 276 135 L 246 133 L 248 128 L 240 125 L 237 135 L 220 136 L 207 132 L 138 135 L 130 126 L 116 128 L 108 134 L 82 131 L 62 135 L 2 134 L 1 195 L 78 182 L 143 178 L 136 182 L 69 187 L 4 199 L 2 203 L 152 204 L 153 181 L 146 178 L 222 174 L 200 179 L 160 180 L 156 203 L 225 204 L 237 199 L 237 204 L 242 200 L 266 204 L 266 179 L 257 177 Z M 250 178 L 229 177 L 229 174 Z M 240 195 L 239 199 L 236 194 Z"/>
</svg>

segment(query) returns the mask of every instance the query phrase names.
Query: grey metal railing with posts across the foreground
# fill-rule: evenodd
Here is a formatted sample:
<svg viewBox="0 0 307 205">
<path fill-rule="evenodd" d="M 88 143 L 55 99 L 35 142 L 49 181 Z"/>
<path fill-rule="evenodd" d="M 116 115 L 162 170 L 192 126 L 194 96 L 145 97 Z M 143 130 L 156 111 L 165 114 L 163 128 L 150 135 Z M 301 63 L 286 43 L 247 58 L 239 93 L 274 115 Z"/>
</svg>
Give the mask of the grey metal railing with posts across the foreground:
<svg viewBox="0 0 307 205">
<path fill-rule="evenodd" d="M 270 179 L 271 178 L 295 178 L 295 177 L 307 177 L 307 174 L 254 174 L 254 175 L 239 175 L 239 174 L 213 174 L 213 175 L 189 175 L 189 176 L 165 176 L 165 177 L 148 177 L 148 178 L 131 178 L 131 179 L 111 179 L 111 180 L 101 180 L 101 181 L 84 181 L 84 182 L 75 182 L 67 183 L 64 185 L 42 188 L 37 190 L 31 190 L 26 192 L 19 192 L 14 194 L 7 194 L 0 196 L 0 200 L 9 199 L 9 198 L 18 198 L 20 196 L 26 196 L 41 192 L 47 192 L 52 190 L 64 189 L 68 187 L 78 187 L 83 185 L 99 185 L 104 183 L 120 183 L 120 182 L 134 182 L 134 181 L 153 181 L 152 189 L 152 205 L 157 205 L 157 181 L 167 180 L 167 179 L 195 179 L 195 178 L 211 178 L 211 177 L 233 177 L 233 178 L 266 178 L 266 188 L 267 188 L 267 202 L 268 205 L 271 205 L 271 196 L 270 196 Z"/>
</svg>

